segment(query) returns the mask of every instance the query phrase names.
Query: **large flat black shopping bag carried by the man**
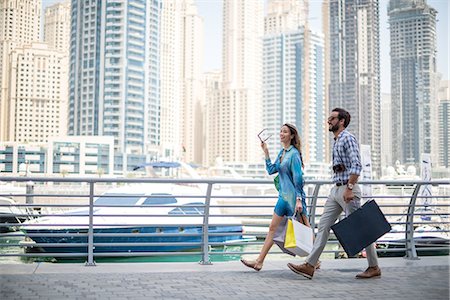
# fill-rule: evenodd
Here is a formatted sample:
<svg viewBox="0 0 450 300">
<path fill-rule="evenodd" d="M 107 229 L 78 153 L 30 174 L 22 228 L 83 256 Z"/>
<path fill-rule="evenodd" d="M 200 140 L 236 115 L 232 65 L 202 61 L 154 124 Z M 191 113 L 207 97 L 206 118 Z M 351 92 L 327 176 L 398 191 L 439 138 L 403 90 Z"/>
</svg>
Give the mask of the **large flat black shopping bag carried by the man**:
<svg viewBox="0 0 450 300">
<path fill-rule="evenodd" d="M 368 201 L 347 218 L 331 226 L 348 256 L 354 256 L 391 230 L 378 204 Z"/>
</svg>

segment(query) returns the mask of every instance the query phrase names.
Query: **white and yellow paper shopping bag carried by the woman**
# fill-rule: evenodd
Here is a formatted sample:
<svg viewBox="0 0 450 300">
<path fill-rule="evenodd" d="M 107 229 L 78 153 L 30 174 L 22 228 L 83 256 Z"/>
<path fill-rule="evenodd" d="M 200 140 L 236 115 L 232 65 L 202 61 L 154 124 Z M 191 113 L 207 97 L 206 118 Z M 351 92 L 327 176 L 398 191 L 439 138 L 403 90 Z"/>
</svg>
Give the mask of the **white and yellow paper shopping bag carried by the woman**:
<svg viewBox="0 0 450 300">
<path fill-rule="evenodd" d="M 289 219 L 284 247 L 298 256 L 307 256 L 313 247 L 312 229 L 295 219 Z"/>
</svg>

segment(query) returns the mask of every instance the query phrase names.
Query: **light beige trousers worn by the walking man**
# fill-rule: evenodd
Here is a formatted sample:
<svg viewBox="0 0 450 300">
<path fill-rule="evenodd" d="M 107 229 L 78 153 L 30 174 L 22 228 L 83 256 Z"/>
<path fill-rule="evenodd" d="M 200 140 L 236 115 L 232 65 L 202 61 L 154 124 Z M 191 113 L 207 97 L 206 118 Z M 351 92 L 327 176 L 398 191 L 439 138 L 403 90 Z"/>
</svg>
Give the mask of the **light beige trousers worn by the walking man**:
<svg viewBox="0 0 450 300">
<path fill-rule="evenodd" d="M 347 186 L 333 186 L 325 202 L 324 211 L 319 222 L 319 231 L 317 232 L 316 239 L 314 240 L 314 246 L 306 258 L 306 262 L 315 266 L 319 260 L 320 254 L 322 254 L 325 245 L 327 244 L 328 237 L 330 236 L 330 227 L 336 222 L 342 211 L 348 216 L 361 207 L 361 188 L 358 184 L 353 187 L 353 194 L 355 198 L 349 203 L 344 201 L 344 191 Z M 378 265 L 377 252 L 375 251 L 375 245 L 370 244 L 366 248 L 367 261 L 369 267 Z"/>
</svg>

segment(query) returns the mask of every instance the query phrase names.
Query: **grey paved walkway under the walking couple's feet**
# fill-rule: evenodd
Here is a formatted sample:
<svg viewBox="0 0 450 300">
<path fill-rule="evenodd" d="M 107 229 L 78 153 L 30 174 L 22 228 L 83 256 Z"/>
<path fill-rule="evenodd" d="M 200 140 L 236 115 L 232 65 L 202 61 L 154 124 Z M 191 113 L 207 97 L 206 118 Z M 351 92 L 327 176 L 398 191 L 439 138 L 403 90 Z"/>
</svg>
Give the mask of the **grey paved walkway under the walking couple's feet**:
<svg viewBox="0 0 450 300">
<path fill-rule="evenodd" d="M 295 261 L 295 260 L 293 260 Z M 298 260 L 297 260 L 298 262 Z M 324 260 L 313 280 L 269 260 L 240 262 L 1 264 L 1 299 L 449 299 L 449 257 L 381 258 L 382 277 L 357 280 L 365 259 Z"/>
</svg>

